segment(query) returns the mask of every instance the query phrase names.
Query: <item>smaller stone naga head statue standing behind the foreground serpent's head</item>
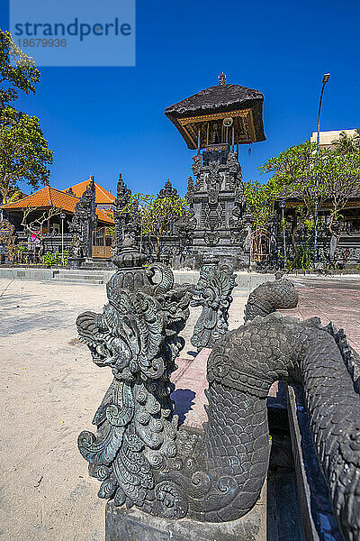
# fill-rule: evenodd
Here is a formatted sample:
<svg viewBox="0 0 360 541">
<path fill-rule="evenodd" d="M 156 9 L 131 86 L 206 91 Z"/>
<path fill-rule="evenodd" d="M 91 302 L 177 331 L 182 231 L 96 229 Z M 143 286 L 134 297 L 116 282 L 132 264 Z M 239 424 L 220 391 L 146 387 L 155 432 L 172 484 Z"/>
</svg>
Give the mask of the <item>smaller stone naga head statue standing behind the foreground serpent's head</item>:
<svg viewBox="0 0 360 541">
<path fill-rule="evenodd" d="M 220 336 L 228 331 L 231 292 L 236 286 L 232 267 L 218 260 L 210 260 L 202 266 L 200 278 L 193 291 L 193 307 L 202 306 L 191 343 L 200 351 L 212 347 Z"/>
</svg>

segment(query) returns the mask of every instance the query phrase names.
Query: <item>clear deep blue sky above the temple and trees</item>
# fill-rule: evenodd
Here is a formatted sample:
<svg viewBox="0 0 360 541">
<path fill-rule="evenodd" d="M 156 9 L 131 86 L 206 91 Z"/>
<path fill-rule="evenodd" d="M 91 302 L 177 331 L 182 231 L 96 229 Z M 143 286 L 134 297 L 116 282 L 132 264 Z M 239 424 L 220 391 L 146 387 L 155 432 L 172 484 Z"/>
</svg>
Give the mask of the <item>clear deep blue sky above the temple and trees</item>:
<svg viewBox="0 0 360 541">
<path fill-rule="evenodd" d="M 184 194 L 193 151 L 164 109 L 224 71 L 265 95 L 266 142 L 240 149 L 244 179 L 262 179 L 267 158 L 316 130 L 323 73 L 321 129 L 360 127 L 359 28 L 358 0 L 138 0 L 135 68 L 41 68 L 36 95 L 16 106 L 40 117 L 55 188 L 93 174 L 115 193 L 121 172 L 133 192 L 170 178 Z"/>
</svg>

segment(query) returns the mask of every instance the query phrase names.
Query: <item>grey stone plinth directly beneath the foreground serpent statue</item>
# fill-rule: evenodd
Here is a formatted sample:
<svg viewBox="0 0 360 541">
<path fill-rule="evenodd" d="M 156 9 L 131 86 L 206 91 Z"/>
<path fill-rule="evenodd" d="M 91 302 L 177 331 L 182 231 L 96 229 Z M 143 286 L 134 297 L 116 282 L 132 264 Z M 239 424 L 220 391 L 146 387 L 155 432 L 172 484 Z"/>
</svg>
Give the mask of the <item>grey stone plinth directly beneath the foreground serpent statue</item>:
<svg viewBox="0 0 360 541">
<path fill-rule="evenodd" d="M 153 517 L 136 508 L 116 508 L 109 501 L 105 532 L 105 541 L 266 541 L 266 483 L 245 517 L 218 524 Z"/>
</svg>

